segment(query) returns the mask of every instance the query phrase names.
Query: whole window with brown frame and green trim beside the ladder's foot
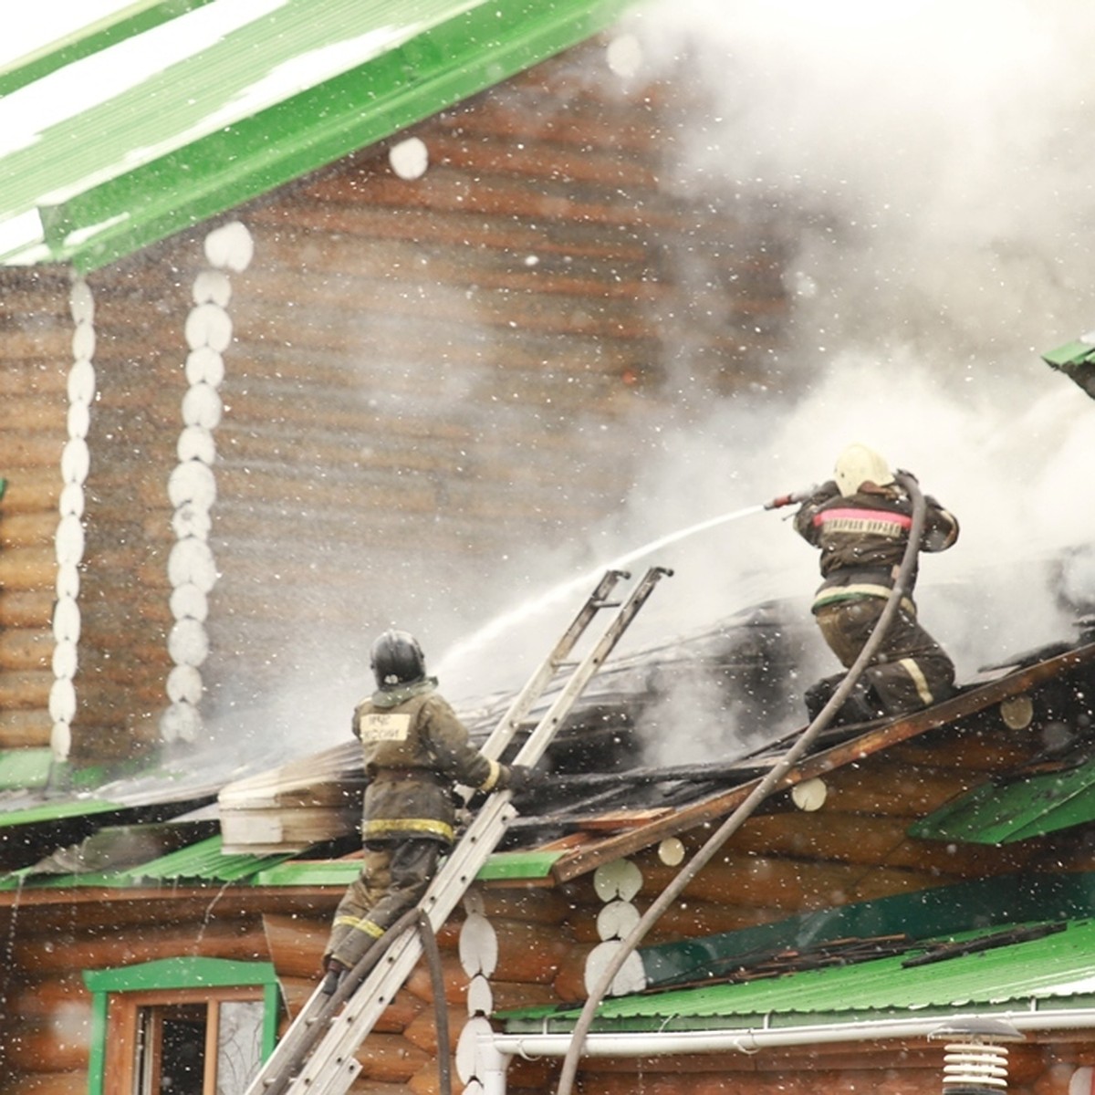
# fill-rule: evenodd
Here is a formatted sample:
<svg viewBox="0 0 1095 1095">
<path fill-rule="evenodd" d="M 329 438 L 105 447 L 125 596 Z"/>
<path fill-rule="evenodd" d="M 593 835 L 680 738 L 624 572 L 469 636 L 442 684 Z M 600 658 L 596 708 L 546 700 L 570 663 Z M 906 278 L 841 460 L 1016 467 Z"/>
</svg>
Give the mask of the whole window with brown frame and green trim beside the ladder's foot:
<svg viewBox="0 0 1095 1095">
<path fill-rule="evenodd" d="M 175 958 L 87 970 L 90 1095 L 235 1095 L 277 1036 L 268 963 Z"/>
</svg>

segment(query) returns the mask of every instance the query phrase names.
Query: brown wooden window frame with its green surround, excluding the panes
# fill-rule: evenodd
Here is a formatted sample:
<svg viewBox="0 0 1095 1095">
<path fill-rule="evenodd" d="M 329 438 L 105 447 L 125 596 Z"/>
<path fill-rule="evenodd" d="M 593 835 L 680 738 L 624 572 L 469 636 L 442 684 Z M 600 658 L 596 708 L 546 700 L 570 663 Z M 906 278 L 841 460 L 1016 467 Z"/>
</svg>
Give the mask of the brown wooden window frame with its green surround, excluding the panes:
<svg viewBox="0 0 1095 1095">
<path fill-rule="evenodd" d="M 165 958 L 118 969 L 84 970 L 92 992 L 88 1095 L 132 1095 L 141 1008 L 200 1003 L 208 1007 L 206 1077 L 217 1068 L 216 1039 L 223 1001 L 262 1001 L 262 1059 L 277 1041 L 279 991 L 269 963 Z M 212 1045 L 212 1052 L 208 1046 Z"/>
</svg>

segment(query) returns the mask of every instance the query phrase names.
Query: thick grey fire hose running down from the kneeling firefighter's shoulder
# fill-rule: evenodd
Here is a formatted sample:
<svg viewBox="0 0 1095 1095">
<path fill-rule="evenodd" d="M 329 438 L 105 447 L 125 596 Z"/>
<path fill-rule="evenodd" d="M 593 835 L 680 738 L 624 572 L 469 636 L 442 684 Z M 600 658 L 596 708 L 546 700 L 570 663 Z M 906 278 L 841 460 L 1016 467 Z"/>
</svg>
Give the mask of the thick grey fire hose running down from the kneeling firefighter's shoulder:
<svg viewBox="0 0 1095 1095">
<path fill-rule="evenodd" d="M 757 807 L 768 796 L 777 788 L 780 781 L 797 763 L 798 759 L 814 744 L 815 738 L 829 725 L 830 719 L 843 704 L 855 682 L 860 679 L 863 670 L 871 664 L 875 652 L 881 644 L 883 638 L 889 629 L 890 621 L 897 614 L 901 600 L 904 597 L 906 587 L 912 576 L 917 565 L 917 557 L 920 552 L 920 538 L 924 531 L 924 497 L 920 493 L 920 485 L 912 475 L 898 472 L 897 482 L 906 488 L 912 499 L 912 525 L 909 529 L 909 542 L 901 558 L 901 566 L 898 568 L 894 588 L 890 591 L 886 608 L 875 624 L 875 630 L 871 633 L 860 656 L 848 670 L 844 679 L 840 682 L 837 691 L 830 696 L 829 702 L 821 708 L 817 717 L 803 731 L 797 741 L 783 754 L 779 763 L 764 776 L 753 788 L 752 794 L 723 822 L 713 837 L 700 849 L 692 860 L 681 868 L 676 878 L 661 891 L 654 903 L 646 910 L 639 922 L 632 930 L 631 934 L 623 941 L 621 947 L 612 956 L 601 975 L 600 980 L 595 984 L 589 993 L 575 1024 L 572 1035 L 570 1048 L 563 1059 L 563 1070 L 560 1075 L 556 1095 L 570 1095 L 574 1087 L 574 1080 L 578 1071 L 578 1057 L 586 1042 L 586 1035 L 592 1025 L 593 1016 L 601 1001 L 604 999 L 616 973 L 620 972 L 624 961 L 631 953 L 646 937 L 646 933 L 657 923 L 661 914 L 677 900 L 685 886 L 707 865 L 715 853 L 724 843 L 741 828 L 744 822 L 757 809 Z"/>
</svg>

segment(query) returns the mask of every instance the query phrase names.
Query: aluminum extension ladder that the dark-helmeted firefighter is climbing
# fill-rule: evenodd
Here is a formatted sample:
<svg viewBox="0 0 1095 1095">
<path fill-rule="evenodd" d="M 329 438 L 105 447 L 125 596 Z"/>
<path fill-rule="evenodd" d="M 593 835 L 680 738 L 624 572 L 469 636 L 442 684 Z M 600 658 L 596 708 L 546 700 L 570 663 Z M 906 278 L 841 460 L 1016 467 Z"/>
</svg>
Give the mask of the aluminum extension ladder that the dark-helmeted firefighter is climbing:
<svg viewBox="0 0 1095 1095">
<path fill-rule="evenodd" d="M 533 765 L 543 756 L 555 733 L 627 630 L 658 580 L 671 575 L 665 567 L 652 567 L 623 601 L 610 601 L 616 585 L 631 577 L 625 570 L 608 570 L 589 596 L 554 649 L 532 675 L 502 716 L 483 745 L 484 756 L 497 760 L 514 739 L 521 723 L 561 670 L 569 671 L 555 701 L 530 733 L 515 763 Z M 618 611 L 600 639 L 578 661 L 567 662 L 578 641 L 599 611 Z M 464 830 L 446 858 L 416 914 L 437 931 L 450 917 L 489 858 L 517 811 L 508 791 L 493 793 Z M 368 1037 L 395 993 L 411 976 L 423 954 L 423 940 L 408 914 L 381 938 L 381 953 L 366 972 L 353 971 L 332 996 L 320 991 L 308 1003 L 278 1042 L 269 1059 L 249 1085 L 245 1095 L 343 1095 L 353 1084 L 360 1063 L 354 1056 Z M 408 925 L 401 927 L 400 925 Z M 368 966 L 369 956 L 362 959 Z M 358 983 L 345 982 L 357 975 Z"/>
</svg>

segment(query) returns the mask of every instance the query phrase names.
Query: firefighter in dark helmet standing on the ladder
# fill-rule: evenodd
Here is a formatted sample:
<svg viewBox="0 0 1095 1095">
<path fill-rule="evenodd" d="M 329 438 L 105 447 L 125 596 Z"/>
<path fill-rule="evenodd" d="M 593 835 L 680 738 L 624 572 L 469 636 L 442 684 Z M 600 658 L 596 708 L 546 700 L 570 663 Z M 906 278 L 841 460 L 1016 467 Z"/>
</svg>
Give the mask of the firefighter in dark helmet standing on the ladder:
<svg viewBox="0 0 1095 1095">
<path fill-rule="evenodd" d="M 368 785 L 361 871 L 335 910 L 324 956 L 324 991 L 418 903 L 453 842 L 457 784 L 482 792 L 531 787 L 530 769 L 479 752 L 456 712 L 426 676 L 413 635 L 385 631 L 373 644 L 377 690 L 354 712 Z"/>
</svg>

